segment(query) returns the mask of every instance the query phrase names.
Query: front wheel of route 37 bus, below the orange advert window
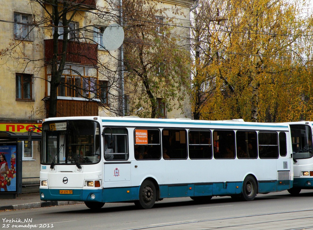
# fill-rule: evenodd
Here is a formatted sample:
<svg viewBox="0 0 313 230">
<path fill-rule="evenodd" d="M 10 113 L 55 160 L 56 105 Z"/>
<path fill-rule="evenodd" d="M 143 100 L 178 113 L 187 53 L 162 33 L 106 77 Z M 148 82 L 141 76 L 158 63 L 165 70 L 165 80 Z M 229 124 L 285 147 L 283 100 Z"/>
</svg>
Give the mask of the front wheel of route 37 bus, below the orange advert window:
<svg viewBox="0 0 313 230">
<path fill-rule="evenodd" d="M 152 208 L 156 202 L 156 186 L 151 180 L 144 180 L 139 189 L 139 200 L 135 205 L 141 209 Z"/>
</svg>

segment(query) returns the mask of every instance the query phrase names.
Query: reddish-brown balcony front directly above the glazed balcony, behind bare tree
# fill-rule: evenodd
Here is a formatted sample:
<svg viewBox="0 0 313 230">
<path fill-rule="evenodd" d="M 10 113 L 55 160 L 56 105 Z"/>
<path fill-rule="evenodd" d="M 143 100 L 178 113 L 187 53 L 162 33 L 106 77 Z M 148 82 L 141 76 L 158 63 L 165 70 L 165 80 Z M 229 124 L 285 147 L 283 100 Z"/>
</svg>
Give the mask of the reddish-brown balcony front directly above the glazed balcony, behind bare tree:
<svg viewBox="0 0 313 230">
<path fill-rule="evenodd" d="M 63 40 L 58 40 L 58 60 L 61 59 Z M 53 39 L 44 40 L 45 62 L 49 63 L 53 57 Z M 66 49 L 66 62 L 81 65 L 97 65 L 97 44 L 69 41 Z"/>
</svg>

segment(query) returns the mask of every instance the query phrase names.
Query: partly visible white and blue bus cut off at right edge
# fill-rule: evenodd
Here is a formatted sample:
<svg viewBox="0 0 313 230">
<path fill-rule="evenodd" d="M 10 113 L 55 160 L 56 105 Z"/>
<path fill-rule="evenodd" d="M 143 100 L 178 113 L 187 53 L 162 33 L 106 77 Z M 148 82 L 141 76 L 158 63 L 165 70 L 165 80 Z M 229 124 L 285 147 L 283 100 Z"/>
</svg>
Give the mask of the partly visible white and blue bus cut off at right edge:
<svg viewBox="0 0 313 230">
<path fill-rule="evenodd" d="M 290 122 L 294 181 L 288 189 L 292 195 L 301 189 L 313 189 L 312 125 L 310 121 Z"/>
</svg>

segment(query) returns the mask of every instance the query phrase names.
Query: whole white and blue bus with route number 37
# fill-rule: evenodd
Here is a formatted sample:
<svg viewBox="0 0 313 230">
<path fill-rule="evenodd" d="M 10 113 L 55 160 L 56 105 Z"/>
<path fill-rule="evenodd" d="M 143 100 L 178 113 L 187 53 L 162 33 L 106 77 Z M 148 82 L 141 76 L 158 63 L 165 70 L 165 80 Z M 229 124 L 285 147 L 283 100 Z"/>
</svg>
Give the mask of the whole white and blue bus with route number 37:
<svg viewBox="0 0 313 230">
<path fill-rule="evenodd" d="M 134 202 L 213 196 L 251 201 L 292 188 L 288 124 L 63 117 L 42 125 L 44 201 Z"/>
</svg>

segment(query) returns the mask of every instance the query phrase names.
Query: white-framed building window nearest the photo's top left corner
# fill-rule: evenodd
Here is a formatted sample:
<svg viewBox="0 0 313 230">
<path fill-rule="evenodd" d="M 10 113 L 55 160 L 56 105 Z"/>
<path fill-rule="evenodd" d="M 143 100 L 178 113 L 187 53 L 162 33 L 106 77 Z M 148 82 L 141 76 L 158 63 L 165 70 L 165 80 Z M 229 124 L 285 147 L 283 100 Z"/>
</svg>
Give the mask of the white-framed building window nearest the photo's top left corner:
<svg viewBox="0 0 313 230">
<path fill-rule="evenodd" d="M 14 13 L 14 37 L 16 39 L 30 40 L 30 23 L 31 15 Z"/>
</svg>

